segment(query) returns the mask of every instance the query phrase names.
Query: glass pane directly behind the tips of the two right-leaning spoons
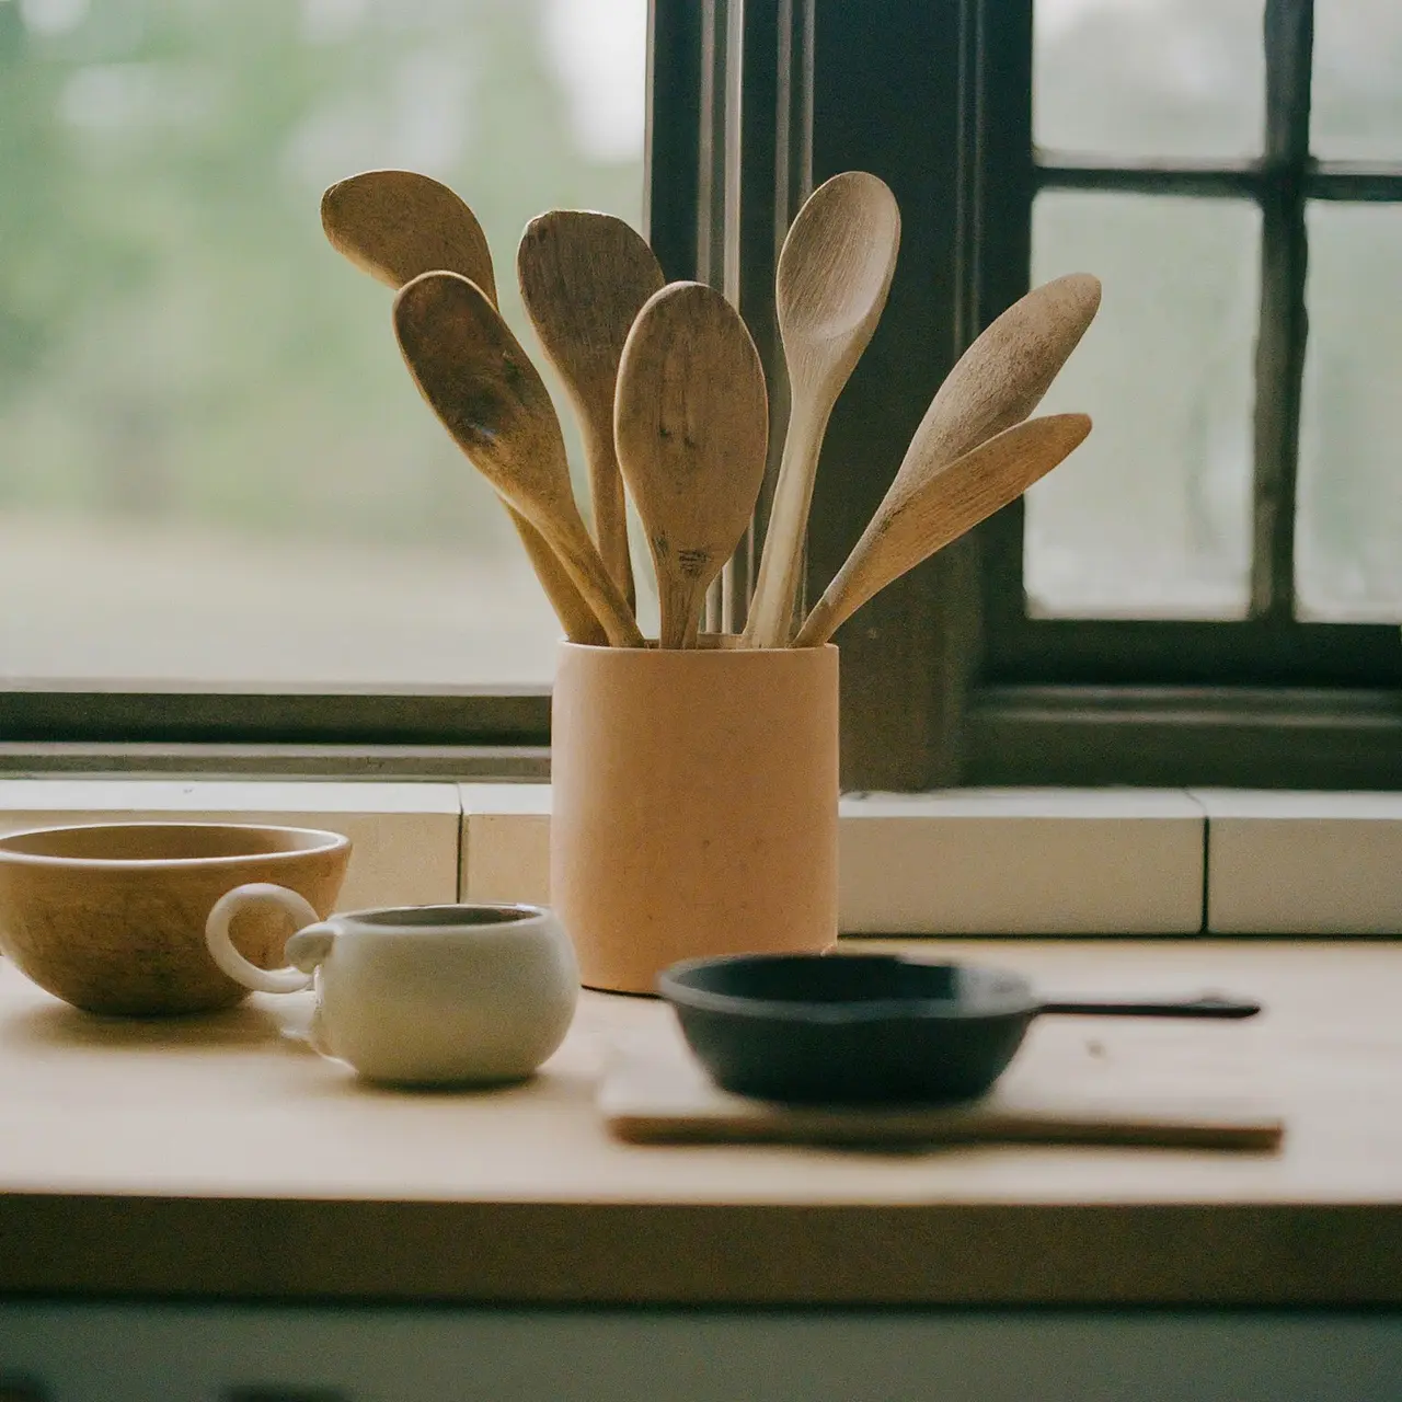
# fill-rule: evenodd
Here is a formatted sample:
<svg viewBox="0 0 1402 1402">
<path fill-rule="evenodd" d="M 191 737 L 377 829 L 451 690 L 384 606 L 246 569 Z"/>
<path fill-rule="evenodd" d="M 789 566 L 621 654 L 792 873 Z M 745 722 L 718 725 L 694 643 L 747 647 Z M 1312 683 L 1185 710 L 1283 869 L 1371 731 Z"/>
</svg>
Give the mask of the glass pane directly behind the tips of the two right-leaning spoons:
<svg viewBox="0 0 1402 1402">
<path fill-rule="evenodd" d="M 1251 569 L 1259 217 L 1238 200 L 1047 193 L 1033 282 L 1096 273 L 1099 315 L 1037 412 L 1095 421 L 1028 494 L 1033 615 L 1239 618 Z"/>
</svg>

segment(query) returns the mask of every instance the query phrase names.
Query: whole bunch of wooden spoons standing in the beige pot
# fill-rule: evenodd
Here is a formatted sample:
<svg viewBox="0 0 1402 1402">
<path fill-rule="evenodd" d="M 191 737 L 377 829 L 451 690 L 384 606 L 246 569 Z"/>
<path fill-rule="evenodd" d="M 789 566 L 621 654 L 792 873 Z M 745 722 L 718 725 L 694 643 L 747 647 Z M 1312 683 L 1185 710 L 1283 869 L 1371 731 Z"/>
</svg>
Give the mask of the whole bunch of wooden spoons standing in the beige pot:
<svg viewBox="0 0 1402 1402">
<path fill-rule="evenodd" d="M 714 289 L 665 283 L 622 220 L 551 210 L 516 252 L 526 311 L 579 416 L 593 534 L 550 394 L 496 308 L 492 258 L 453 191 L 369 171 L 321 200 L 332 245 L 397 289 L 394 329 L 425 400 L 492 484 L 573 642 L 644 646 L 625 492 L 658 576 L 659 645 L 697 642 L 705 594 L 744 536 L 764 477 L 768 395 L 740 314 Z M 819 186 L 789 229 L 775 300 L 791 412 L 743 646 L 817 646 L 878 590 L 1063 461 L 1084 414 L 1029 419 L 1095 315 L 1089 273 L 1009 307 L 935 394 L 847 562 L 795 629 L 803 533 L 829 415 L 871 341 L 900 243 L 875 175 Z"/>
</svg>

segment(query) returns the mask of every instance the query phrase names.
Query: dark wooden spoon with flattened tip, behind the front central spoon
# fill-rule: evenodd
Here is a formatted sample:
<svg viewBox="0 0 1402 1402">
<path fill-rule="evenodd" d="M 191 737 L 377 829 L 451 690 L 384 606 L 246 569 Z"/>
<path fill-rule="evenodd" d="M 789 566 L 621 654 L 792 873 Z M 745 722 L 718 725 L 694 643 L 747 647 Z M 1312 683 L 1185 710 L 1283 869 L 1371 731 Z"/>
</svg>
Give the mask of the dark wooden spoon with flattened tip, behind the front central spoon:
<svg viewBox="0 0 1402 1402">
<path fill-rule="evenodd" d="M 628 510 L 613 411 L 618 358 L 642 304 L 662 286 L 646 240 L 621 219 L 554 209 L 526 226 L 516 250 L 526 314 L 579 415 L 594 517 L 594 540 L 628 606 Z"/>
</svg>

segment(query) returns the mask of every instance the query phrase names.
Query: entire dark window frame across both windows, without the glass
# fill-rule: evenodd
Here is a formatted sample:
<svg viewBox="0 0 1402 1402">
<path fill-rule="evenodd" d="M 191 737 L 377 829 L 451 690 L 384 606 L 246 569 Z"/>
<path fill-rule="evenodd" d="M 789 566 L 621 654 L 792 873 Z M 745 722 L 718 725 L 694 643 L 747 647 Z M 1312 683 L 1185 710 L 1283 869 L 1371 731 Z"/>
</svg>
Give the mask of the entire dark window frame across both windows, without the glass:
<svg viewBox="0 0 1402 1402">
<path fill-rule="evenodd" d="M 820 593 L 959 352 L 1026 290 L 1039 188 L 1234 195 L 1263 212 L 1253 615 L 1029 620 L 1022 512 L 885 590 L 840 634 L 847 788 L 1402 785 L 1395 628 L 1294 624 L 1287 529 L 1304 346 L 1304 200 L 1399 199 L 1402 167 L 1308 154 L 1309 0 L 1267 0 L 1258 161 L 1099 165 L 1032 146 L 1033 0 L 652 0 L 648 233 L 672 278 L 737 299 L 785 387 L 784 230 L 813 184 L 882 175 L 903 210 L 886 314 L 829 428 L 809 534 Z M 743 55 L 743 63 L 742 63 Z M 1258 397 L 1260 398 L 1260 397 Z M 761 499 L 763 503 L 763 499 Z M 761 512 L 763 519 L 763 512 Z M 757 533 L 729 571 L 728 621 Z M 0 767 L 545 773 L 547 688 L 0 690 Z M 257 753 L 255 753 L 257 751 Z M 339 758 L 336 757 L 339 754 Z"/>
</svg>

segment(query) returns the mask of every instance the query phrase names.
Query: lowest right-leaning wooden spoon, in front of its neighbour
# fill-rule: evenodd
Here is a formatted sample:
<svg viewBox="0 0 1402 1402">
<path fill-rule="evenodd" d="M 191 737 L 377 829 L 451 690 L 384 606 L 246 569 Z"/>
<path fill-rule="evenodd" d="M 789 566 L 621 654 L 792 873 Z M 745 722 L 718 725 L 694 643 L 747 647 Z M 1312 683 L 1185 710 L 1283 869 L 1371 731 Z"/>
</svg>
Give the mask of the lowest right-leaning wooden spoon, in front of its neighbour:
<svg viewBox="0 0 1402 1402">
<path fill-rule="evenodd" d="M 1089 432 L 1085 414 L 1053 414 L 1004 429 L 948 464 L 934 456 L 939 440 L 917 432 L 896 481 L 794 646 L 827 642 L 872 594 L 1021 496 Z"/>
</svg>

